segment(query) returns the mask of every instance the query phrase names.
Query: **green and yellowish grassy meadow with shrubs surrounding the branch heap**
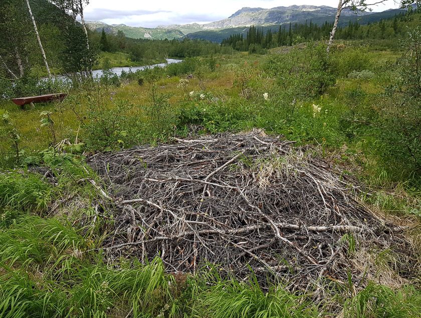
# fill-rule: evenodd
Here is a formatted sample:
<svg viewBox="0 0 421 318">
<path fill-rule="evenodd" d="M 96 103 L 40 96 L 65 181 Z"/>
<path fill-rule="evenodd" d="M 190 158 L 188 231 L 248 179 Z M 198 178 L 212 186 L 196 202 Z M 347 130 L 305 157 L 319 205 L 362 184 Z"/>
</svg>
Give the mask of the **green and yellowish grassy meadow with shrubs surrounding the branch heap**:
<svg viewBox="0 0 421 318">
<path fill-rule="evenodd" d="M 378 276 L 365 289 L 325 282 L 318 303 L 315 290 L 292 293 L 283 281 L 266 288 L 253 275 L 239 282 L 222 277 L 218 264 L 192 275 L 165 272 L 159 257 L 107 263 L 96 248 L 113 220 L 93 209 L 101 194 L 85 182 L 101 184 L 87 154 L 262 129 L 312 145 L 354 178 L 365 189 L 357 200 L 411 226 L 421 261 L 421 108 L 402 93 L 402 67 L 411 63 L 402 54 L 350 42 L 327 57 L 323 44 L 308 43 L 186 58 L 72 88 L 51 84 L 68 97 L 25 111 L 0 101 L 0 317 L 419 316 L 421 271 L 400 277 L 400 258 L 387 251 L 368 251 Z M 101 59 L 135 66 L 122 53 Z M 383 272 L 397 278 L 380 279 Z"/>
</svg>

